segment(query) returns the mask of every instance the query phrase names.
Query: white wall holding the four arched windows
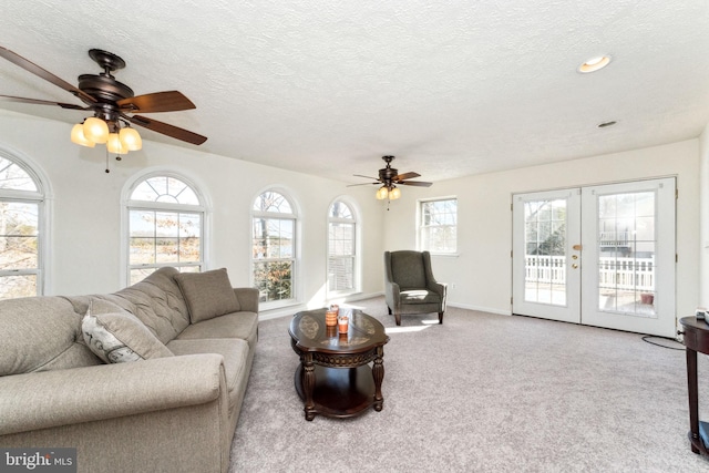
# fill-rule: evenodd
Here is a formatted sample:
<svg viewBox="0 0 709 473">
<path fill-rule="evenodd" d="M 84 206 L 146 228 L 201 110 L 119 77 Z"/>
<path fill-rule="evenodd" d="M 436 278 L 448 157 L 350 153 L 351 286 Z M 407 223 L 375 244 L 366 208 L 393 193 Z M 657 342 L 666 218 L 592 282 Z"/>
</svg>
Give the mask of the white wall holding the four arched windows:
<svg viewBox="0 0 709 473">
<path fill-rule="evenodd" d="M 382 209 L 362 187 L 348 188 L 316 176 L 202 153 L 197 147 L 148 141 L 120 163 L 111 158 L 106 174 L 105 148 L 72 144 L 70 130 L 66 123 L 0 111 L 0 148 L 29 161 L 51 184 L 48 295 L 110 292 L 125 286 L 121 278 L 121 192 L 138 173 L 153 168 L 178 172 L 208 196 L 212 246 L 207 269 L 226 267 L 234 286 L 249 285 L 249 209 L 254 197 L 268 186 L 286 188 L 300 209 L 299 276 L 305 302 L 317 307 L 325 302 L 327 212 L 336 197 L 350 195 L 361 210 L 364 260 L 381 259 Z M 381 267 L 363 265 L 364 295 L 381 292 L 380 275 Z"/>
</svg>

